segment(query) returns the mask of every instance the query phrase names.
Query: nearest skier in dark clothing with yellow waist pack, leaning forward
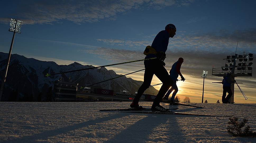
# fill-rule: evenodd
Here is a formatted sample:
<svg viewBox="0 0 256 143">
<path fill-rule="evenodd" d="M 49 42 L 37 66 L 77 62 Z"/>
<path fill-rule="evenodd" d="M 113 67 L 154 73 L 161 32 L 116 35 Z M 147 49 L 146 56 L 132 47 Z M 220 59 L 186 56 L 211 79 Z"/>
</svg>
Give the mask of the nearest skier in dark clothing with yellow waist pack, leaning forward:
<svg viewBox="0 0 256 143">
<path fill-rule="evenodd" d="M 145 59 L 154 58 L 151 60 L 145 60 L 145 73 L 144 73 L 144 82 L 140 86 L 137 95 L 132 101 L 130 107 L 142 109 L 140 106 L 139 100 L 144 91 L 150 86 L 153 75 L 155 74 L 159 78 L 163 85 L 161 86 L 156 98 L 154 99 L 153 105 L 151 107 L 152 111 L 169 111 L 168 108 L 164 108 L 160 105 L 164 94 L 172 85 L 172 79 L 170 78 L 167 70 L 164 68 L 165 63 L 163 62 L 166 58 L 166 50 L 169 43 L 169 38 L 173 38 L 176 34 L 176 27 L 173 24 L 167 24 L 165 30 L 160 31 L 153 40 L 151 46 L 147 46 L 144 54 L 146 55 Z"/>
</svg>

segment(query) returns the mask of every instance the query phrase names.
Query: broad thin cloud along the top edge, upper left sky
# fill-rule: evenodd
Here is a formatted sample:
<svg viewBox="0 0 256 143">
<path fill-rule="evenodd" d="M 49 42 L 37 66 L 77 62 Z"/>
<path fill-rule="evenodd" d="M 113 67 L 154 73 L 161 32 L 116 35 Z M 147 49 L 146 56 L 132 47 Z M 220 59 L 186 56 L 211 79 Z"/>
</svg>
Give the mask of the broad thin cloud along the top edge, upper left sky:
<svg viewBox="0 0 256 143">
<path fill-rule="evenodd" d="M 98 22 L 102 19 L 115 20 L 117 14 L 131 9 L 154 8 L 162 9 L 169 6 L 181 6 L 190 1 L 174 0 L 118 0 L 118 1 L 27 1 L 19 9 L 15 17 L 24 24 L 52 24 L 60 20 L 68 20 L 80 24 L 84 22 Z M 9 23 L 10 19 L 0 18 L 0 22 Z"/>
</svg>

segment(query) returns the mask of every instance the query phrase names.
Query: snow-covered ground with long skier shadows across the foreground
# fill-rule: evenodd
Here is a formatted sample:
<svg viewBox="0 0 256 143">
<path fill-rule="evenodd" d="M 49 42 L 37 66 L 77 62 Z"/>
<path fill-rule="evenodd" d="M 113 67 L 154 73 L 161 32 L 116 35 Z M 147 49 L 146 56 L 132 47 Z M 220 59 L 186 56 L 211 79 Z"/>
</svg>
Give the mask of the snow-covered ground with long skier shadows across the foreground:
<svg viewBox="0 0 256 143">
<path fill-rule="evenodd" d="M 150 108 L 152 102 L 141 102 Z M 232 115 L 256 130 L 256 104 L 190 103 L 177 112 Z M 0 142 L 256 142 L 227 134 L 228 117 L 102 112 L 130 102 L 0 103 Z"/>
</svg>

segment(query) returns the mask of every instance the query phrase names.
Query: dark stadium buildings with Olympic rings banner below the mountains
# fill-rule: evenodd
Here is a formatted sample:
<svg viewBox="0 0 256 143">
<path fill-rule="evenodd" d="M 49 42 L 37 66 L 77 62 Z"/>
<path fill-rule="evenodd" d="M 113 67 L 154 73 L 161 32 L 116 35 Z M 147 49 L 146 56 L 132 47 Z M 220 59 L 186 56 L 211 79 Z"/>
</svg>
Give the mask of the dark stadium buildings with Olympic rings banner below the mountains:
<svg viewBox="0 0 256 143">
<path fill-rule="evenodd" d="M 54 82 L 54 101 L 55 102 L 95 102 L 95 101 L 132 101 L 135 97 L 133 94 L 128 94 L 124 90 L 123 93 L 115 93 L 114 90 L 84 87 L 77 91 L 78 84 L 63 81 L 63 78 Z M 153 96 L 153 95 L 152 95 Z M 145 99 L 145 95 L 141 96 Z M 148 96 L 148 99 L 152 99 Z M 151 100 L 150 100 L 151 101 Z"/>
</svg>

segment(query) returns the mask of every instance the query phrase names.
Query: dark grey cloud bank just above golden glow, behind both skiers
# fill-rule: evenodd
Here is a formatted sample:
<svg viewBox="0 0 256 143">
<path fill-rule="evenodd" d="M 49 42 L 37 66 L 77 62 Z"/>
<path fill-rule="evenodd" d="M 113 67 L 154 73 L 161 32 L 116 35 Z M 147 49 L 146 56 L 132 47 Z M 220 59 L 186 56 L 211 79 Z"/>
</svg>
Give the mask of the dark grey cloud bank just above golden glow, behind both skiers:
<svg viewBox="0 0 256 143">
<path fill-rule="evenodd" d="M 143 59 L 145 55 L 142 51 L 137 50 L 125 50 L 125 49 L 112 49 L 112 48 L 97 48 L 97 49 L 89 49 L 82 50 L 81 52 L 86 52 L 90 54 L 95 54 L 98 57 L 111 60 L 113 62 L 127 62 L 133 60 Z M 207 51 L 168 51 L 166 53 L 166 68 L 171 69 L 171 65 L 178 60 L 179 57 L 184 58 L 184 63 L 182 64 L 182 71 L 185 74 L 189 74 L 191 77 L 200 77 L 203 70 L 209 71 L 211 74 L 212 66 L 214 68 L 221 68 L 225 65 L 225 60 L 228 53 L 215 53 L 215 52 L 207 52 Z M 139 66 L 139 68 L 143 68 L 144 65 L 141 63 L 132 63 L 127 64 L 126 66 Z M 127 67 L 130 68 L 130 67 Z M 138 69 L 139 70 L 139 69 Z M 255 71 L 253 70 L 253 74 Z M 256 73 L 255 73 L 256 74 Z M 208 77 L 209 78 L 209 77 Z M 215 79 L 215 78 L 213 78 Z"/>
</svg>

